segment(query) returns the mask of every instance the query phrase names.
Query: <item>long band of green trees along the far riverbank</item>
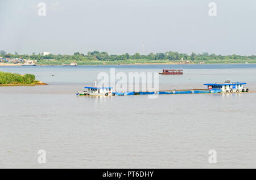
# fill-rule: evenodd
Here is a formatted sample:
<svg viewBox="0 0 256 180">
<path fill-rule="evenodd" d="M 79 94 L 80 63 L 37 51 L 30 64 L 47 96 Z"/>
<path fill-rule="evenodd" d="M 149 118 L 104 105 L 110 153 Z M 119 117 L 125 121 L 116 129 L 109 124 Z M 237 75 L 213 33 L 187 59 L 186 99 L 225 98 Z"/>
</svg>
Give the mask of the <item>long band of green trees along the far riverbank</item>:
<svg viewBox="0 0 256 180">
<path fill-rule="evenodd" d="M 56 60 L 76 60 L 76 61 L 120 61 L 120 60 L 127 60 L 127 59 L 147 59 L 147 60 L 181 60 L 184 61 L 194 61 L 194 60 L 201 60 L 201 61 L 207 61 L 207 60 L 223 60 L 223 59 L 241 59 L 241 60 L 247 60 L 247 59 L 256 59 L 256 55 L 216 55 L 216 54 L 208 54 L 208 53 L 192 53 L 191 55 L 185 54 L 185 53 L 177 53 L 177 52 L 166 52 L 166 53 L 150 53 L 147 55 L 142 55 L 139 53 L 135 53 L 133 55 L 130 55 L 128 53 L 122 54 L 122 55 L 115 55 L 111 54 L 109 55 L 107 52 L 98 52 L 94 50 L 94 52 L 88 52 L 87 54 L 82 54 L 79 52 L 74 53 L 73 55 L 61 55 L 61 54 L 49 54 L 49 55 L 43 55 L 42 54 L 36 54 L 32 53 L 32 55 L 19 55 L 17 52 L 14 54 L 6 53 L 4 50 L 0 51 L 1 57 L 3 58 L 23 58 L 23 59 L 34 59 L 34 60 L 44 60 L 44 59 L 56 59 Z"/>
</svg>

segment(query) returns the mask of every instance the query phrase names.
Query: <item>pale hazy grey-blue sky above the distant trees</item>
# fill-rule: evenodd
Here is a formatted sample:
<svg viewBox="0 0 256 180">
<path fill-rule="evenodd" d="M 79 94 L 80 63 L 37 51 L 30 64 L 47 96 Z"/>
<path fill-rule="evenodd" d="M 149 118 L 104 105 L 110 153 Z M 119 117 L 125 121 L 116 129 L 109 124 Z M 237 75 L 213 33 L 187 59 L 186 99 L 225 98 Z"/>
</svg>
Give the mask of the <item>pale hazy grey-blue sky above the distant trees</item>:
<svg viewBox="0 0 256 180">
<path fill-rule="evenodd" d="M 39 2 L 46 16 L 38 15 Z M 217 16 L 209 16 L 210 2 Z M 0 50 L 7 53 L 251 55 L 255 42 L 255 0 L 0 0 Z"/>
</svg>

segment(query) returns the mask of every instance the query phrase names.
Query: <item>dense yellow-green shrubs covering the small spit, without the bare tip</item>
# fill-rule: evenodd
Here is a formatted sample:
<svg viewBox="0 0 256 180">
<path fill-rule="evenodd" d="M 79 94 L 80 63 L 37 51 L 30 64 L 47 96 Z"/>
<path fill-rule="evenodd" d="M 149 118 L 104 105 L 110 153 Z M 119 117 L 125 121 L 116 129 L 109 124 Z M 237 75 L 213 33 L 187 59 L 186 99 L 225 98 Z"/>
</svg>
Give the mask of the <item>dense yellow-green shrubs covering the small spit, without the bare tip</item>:
<svg viewBox="0 0 256 180">
<path fill-rule="evenodd" d="M 0 71 L 0 84 L 31 84 L 35 82 L 35 75 L 20 75 L 11 72 Z"/>
</svg>

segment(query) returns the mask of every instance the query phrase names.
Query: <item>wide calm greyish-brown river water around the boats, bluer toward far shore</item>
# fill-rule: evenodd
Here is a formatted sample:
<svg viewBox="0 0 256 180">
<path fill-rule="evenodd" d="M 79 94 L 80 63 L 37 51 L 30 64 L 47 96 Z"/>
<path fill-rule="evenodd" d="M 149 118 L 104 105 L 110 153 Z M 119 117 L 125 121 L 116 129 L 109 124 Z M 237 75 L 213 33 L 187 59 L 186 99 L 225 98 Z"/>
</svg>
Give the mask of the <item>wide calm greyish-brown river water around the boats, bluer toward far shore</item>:
<svg viewBox="0 0 256 180">
<path fill-rule="evenodd" d="M 83 97 L 100 72 L 160 72 L 159 89 L 246 82 L 249 93 Z M 49 85 L 0 87 L 0 168 L 256 168 L 256 65 L 0 67 Z M 54 75 L 54 76 L 51 76 Z M 38 151 L 46 151 L 46 163 Z M 208 161 L 209 150 L 217 163 Z"/>
</svg>

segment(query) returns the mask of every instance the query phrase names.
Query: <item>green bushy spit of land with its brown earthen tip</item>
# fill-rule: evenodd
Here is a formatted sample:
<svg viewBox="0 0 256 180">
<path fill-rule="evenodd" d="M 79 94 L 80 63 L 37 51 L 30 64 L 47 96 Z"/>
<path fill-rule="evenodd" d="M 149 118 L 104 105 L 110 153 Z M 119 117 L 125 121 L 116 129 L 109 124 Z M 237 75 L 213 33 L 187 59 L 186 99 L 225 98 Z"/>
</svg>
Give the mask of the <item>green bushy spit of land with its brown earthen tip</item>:
<svg viewBox="0 0 256 180">
<path fill-rule="evenodd" d="M 0 85 L 46 85 L 46 83 L 35 80 L 35 75 L 32 74 L 20 75 L 0 71 Z"/>
</svg>

